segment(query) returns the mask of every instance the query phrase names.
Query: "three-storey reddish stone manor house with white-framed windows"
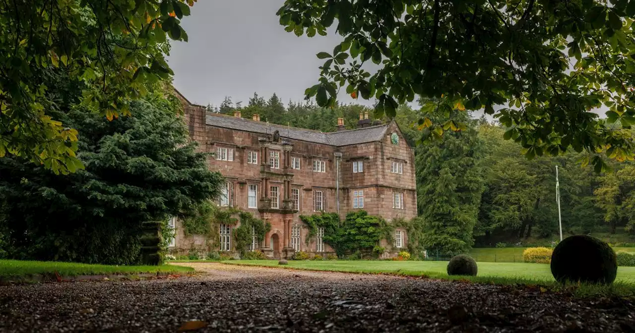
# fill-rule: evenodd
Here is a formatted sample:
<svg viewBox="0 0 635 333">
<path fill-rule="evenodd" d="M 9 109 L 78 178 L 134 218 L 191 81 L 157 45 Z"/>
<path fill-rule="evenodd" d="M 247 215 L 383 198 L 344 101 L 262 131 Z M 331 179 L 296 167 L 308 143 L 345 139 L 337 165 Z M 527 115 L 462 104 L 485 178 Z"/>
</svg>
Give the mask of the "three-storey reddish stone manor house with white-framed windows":
<svg viewBox="0 0 635 333">
<path fill-rule="evenodd" d="M 219 206 L 237 207 L 271 223 L 260 249 L 271 258 L 288 258 L 295 251 L 333 252 L 322 237 L 309 244 L 300 215 L 364 209 L 387 221 L 417 216 L 414 152 L 397 124 L 375 123 L 360 115 L 358 128 L 347 130 L 344 120 L 335 131 L 322 133 L 253 119 L 206 112 L 177 93 L 184 105 L 192 140 L 201 150 L 215 153 L 210 170 L 220 171 L 226 183 Z M 202 237 L 186 237 L 180 221 L 172 244 L 175 252 L 205 246 Z M 220 249 L 233 251 L 232 227 L 221 225 Z M 396 230 L 392 252 L 405 247 L 408 235 Z M 324 253 L 323 253 L 324 252 Z"/>
</svg>

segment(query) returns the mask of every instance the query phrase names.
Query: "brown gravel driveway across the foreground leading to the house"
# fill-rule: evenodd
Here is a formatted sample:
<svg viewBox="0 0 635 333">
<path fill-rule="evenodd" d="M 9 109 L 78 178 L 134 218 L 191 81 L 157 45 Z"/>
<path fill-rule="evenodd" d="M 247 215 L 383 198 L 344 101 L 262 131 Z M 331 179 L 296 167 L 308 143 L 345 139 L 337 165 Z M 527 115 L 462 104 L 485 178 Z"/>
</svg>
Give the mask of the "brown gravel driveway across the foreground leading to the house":
<svg viewBox="0 0 635 333">
<path fill-rule="evenodd" d="M 188 263 L 197 277 L 0 286 L 0 332 L 635 332 L 635 304 L 378 275 Z"/>
</svg>

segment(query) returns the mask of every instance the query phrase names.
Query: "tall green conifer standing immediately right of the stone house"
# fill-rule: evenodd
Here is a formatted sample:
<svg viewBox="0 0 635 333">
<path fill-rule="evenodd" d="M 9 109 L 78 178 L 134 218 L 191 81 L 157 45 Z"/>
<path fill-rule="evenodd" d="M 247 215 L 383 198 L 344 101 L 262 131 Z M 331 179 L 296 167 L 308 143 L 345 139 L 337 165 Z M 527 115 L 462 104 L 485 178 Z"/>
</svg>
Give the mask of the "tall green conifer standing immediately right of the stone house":
<svg viewBox="0 0 635 333">
<path fill-rule="evenodd" d="M 443 121 L 443 116 L 436 121 Z M 469 119 L 464 121 L 471 124 Z M 453 254 L 471 249 L 483 180 L 480 142 L 474 127 L 445 131 L 441 140 L 417 147 L 417 201 L 423 243 L 432 253 Z"/>
</svg>

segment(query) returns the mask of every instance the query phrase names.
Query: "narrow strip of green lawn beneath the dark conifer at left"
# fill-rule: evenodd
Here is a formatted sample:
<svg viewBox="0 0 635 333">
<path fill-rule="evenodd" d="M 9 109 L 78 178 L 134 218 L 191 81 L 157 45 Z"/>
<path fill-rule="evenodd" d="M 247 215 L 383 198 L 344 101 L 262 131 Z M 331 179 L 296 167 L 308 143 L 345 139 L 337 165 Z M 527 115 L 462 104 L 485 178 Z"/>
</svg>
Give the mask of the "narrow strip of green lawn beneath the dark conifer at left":
<svg viewBox="0 0 635 333">
<path fill-rule="evenodd" d="M 110 266 L 105 264 L 63 263 L 60 261 L 1 260 L 0 277 L 25 277 L 34 274 L 54 274 L 62 276 L 109 275 L 139 273 L 187 273 L 194 269 L 183 266 Z"/>
</svg>

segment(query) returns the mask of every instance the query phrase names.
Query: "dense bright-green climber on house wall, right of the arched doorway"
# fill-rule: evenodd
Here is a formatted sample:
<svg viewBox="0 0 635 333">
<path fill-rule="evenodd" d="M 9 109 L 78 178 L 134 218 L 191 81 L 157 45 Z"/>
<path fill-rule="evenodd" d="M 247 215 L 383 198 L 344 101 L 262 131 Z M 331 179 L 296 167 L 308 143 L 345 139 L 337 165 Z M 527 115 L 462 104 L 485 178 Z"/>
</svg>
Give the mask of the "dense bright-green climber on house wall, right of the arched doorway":
<svg viewBox="0 0 635 333">
<path fill-rule="evenodd" d="M 394 226 L 363 210 L 349 212 L 344 221 L 340 221 L 335 213 L 303 215 L 300 219 L 309 229 L 307 244 L 317 235 L 318 228 L 324 228 L 324 243 L 333 247 L 338 256 L 357 251 L 371 252 L 382 239 L 392 243 Z"/>
</svg>

